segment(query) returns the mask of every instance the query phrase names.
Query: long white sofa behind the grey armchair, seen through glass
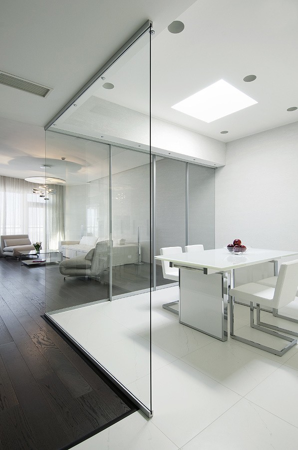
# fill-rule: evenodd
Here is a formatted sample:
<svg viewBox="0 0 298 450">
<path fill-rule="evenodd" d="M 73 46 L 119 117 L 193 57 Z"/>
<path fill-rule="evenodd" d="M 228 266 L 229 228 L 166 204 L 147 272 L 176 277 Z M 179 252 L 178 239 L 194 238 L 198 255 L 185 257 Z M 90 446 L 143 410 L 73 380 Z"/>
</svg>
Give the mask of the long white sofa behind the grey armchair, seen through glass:
<svg viewBox="0 0 298 450">
<path fill-rule="evenodd" d="M 96 242 L 102 238 L 95 236 L 83 236 L 80 240 L 61 240 L 59 250 L 63 256 L 74 258 L 76 256 L 86 255 L 91 248 L 94 248 Z M 133 264 L 138 262 L 138 245 L 136 243 L 124 243 L 122 245 L 113 243 L 112 264 Z"/>
</svg>

